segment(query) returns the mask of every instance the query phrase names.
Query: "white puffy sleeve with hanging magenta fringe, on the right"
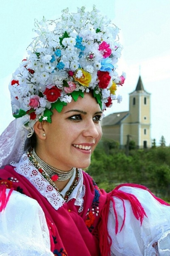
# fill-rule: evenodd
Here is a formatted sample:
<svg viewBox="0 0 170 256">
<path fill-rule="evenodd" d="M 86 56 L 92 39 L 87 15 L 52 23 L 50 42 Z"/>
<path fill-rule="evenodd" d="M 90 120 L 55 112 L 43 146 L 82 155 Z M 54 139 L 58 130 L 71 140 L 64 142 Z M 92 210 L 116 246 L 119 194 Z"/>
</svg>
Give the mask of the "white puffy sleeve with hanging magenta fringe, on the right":
<svg viewBox="0 0 170 256">
<path fill-rule="evenodd" d="M 108 233 L 112 239 L 111 255 L 170 256 L 170 206 L 161 204 L 151 193 L 141 188 L 122 186 L 119 190 L 134 195 L 147 216 L 144 216 L 141 224 L 134 216 L 130 201 L 113 196 L 114 207 L 111 201 L 107 222 Z"/>
</svg>

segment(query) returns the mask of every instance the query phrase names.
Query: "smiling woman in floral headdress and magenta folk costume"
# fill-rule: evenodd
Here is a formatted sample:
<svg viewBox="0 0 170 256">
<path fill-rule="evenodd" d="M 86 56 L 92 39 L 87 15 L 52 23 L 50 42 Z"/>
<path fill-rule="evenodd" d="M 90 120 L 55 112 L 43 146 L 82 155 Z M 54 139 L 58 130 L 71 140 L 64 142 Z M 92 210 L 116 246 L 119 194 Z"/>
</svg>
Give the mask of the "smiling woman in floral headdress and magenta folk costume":
<svg viewBox="0 0 170 256">
<path fill-rule="evenodd" d="M 170 255 L 167 203 L 134 184 L 107 194 L 80 169 L 124 82 L 118 29 L 95 8 L 35 25 L 0 138 L 0 255 Z"/>
</svg>

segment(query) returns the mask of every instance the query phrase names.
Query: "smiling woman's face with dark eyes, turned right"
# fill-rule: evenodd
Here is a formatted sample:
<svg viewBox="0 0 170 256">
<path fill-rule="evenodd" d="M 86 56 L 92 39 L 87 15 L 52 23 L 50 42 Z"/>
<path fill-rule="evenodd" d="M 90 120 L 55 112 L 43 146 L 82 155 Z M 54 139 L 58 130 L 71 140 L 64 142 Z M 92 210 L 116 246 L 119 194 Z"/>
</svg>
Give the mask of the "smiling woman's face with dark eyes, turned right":
<svg viewBox="0 0 170 256">
<path fill-rule="evenodd" d="M 61 113 L 54 110 L 52 123 L 43 123 L 46 137 L 43 146 L 36 148 L 37 154 L 64 171 L 88 167 L 91 153 L 102 136 L 101 115 L 100 106 L 90 93 L 76 102 L 72 99 Z"/>
</svg>

